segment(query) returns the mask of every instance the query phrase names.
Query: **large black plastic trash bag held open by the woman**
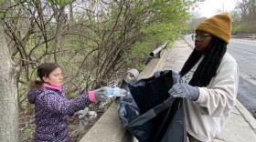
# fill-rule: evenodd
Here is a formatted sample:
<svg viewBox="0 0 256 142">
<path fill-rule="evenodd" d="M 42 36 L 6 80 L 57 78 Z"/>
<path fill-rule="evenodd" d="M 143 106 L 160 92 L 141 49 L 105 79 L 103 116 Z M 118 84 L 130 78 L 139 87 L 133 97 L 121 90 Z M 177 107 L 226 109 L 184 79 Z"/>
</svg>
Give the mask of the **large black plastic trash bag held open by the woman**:
<svg viewBox="0 0 256 142">
<path fill-rule="evenodd" d="M 168 94 L 180 82 L 175 71 L 164 71 L 123 86 L 129 95 L 118 102 L 122 126 L 140 142 L 187 142 L 182 98 Z"/>
</svg>

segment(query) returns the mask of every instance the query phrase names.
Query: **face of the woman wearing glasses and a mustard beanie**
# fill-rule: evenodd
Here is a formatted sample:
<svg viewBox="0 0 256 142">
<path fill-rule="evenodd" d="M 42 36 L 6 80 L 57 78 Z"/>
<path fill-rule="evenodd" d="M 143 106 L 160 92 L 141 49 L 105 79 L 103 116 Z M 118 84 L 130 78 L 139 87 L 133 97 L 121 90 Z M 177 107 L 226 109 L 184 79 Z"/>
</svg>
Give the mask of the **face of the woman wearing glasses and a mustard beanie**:
<svg viewBox="0 0 256 142">
<path fill-rule="evenodd" d="M 212 35 L 209 35 L 208 33 L 204 33 L 202 31 L 196 31 L 195 49 L 202 52 L 204 55 L 208 50 L 211 39 Z"/>
</svg>

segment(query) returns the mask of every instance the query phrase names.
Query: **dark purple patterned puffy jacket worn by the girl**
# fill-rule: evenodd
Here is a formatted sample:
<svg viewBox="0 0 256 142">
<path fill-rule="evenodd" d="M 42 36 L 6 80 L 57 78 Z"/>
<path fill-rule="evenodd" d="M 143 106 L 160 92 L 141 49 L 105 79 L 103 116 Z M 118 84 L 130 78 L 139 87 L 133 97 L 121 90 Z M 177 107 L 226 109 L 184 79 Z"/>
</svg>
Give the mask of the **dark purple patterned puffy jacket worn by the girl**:
<svg viewBox="0 0 256 142">
<path fill-rule="evenodd" d="M 68 116 L 84 109 L 92 102 L 84 93 L 69 100 L 63 90 L 43 87 L 41 90 L 32 88 L 27 93 L 27 99 L 35 104 L 36 141 L 70 142 Z"/>
</svg>

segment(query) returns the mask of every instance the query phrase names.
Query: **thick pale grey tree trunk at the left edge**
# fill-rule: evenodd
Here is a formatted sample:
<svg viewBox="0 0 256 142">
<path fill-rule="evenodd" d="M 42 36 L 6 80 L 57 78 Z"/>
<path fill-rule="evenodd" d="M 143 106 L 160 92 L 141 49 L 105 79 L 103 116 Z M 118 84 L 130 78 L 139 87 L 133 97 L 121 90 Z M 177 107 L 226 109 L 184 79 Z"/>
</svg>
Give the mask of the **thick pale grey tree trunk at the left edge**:
<svg viewBox="0 0 256 142">
<path fill-rule="evenodd" d="M 0 142 L 18 141 L 16 71 L 0 21 Z"/>
</svg>

